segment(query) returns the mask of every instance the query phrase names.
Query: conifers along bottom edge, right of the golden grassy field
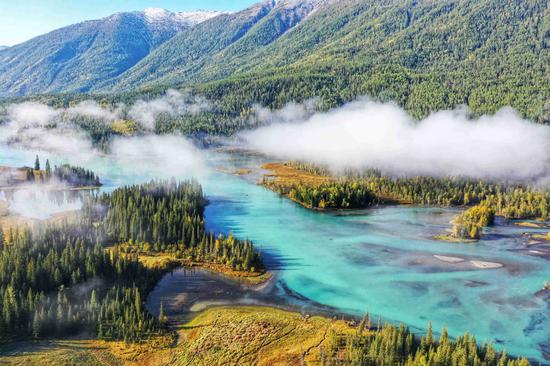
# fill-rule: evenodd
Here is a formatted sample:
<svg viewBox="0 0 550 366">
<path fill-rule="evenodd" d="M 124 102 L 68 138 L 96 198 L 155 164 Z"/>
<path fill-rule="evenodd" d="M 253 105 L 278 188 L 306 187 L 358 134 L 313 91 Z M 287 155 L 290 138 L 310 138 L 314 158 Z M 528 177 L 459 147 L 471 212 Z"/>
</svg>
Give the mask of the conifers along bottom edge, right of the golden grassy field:
<svg viewBox="0 0 550 366">
<path fill-rule="evenodd" d="M 437 339 L 431 324 L 426 336 L 418 337 L 403 326 L 386 324 L 373 327 L 368 314 L 351 334 L 328 335 L 320 347 L 321 365 L 364 366 L 528 366 L 525 358 L 510 358 L 495 350 L 493 343 L 478 344 L 466 333 L 452 340 L 445 328 Z"/>
</svg>

